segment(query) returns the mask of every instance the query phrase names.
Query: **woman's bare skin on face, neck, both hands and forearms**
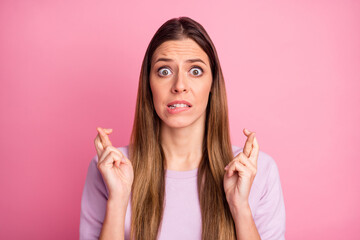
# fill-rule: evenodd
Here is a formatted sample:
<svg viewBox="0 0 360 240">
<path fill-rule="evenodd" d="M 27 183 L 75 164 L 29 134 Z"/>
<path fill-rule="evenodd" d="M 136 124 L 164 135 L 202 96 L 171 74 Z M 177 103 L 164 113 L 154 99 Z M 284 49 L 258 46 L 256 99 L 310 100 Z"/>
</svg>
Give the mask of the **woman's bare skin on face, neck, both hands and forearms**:
<svg viewBox="0 0 360 240">
<path fill-rule="evenodd" d="M 171 61 L 157 62 L 159 58 Z M 201 59 L 203 63 L 186 62 L 188 59 Z M 154 52 L 150 88 L 156 113 L 161 119 L 160 137 L 167 169 L 186 171 L 199 166 L 211 84 L 208 56 L 192 39 L 164 42 Z M 186 100 L 192 107 L 181 113 L 169 114 L 167 105 L 174 100 Z M 97 131 L 94 143 L 99 157 L 98 169 L 109 189 L 101 239 L 123 238 L 124 228 L 112 226 L 124 226 L 134 178 L 133 168 L 129 159 L 112 146 L 108 136 L 112 130 L 98 127 Z M 255 132 L 244 129 L 243 133 L 247 137 L 243 152 L 224 169 L 224 190 L 235 221 L 237 238 L 260 239 L 248 202 L 257 172 L 259 145 Z"/>
</svg>

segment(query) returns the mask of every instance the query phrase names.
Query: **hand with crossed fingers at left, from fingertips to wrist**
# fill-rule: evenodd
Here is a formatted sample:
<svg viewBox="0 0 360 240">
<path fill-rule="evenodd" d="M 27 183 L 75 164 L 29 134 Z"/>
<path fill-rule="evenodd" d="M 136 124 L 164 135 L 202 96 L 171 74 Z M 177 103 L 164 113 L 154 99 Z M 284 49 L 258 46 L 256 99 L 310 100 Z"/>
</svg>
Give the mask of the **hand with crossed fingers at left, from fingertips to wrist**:
<svg viewBox="0 0 360 240">
<path fill-rule="evenodd" d="M 108 134 L 112 129 L 97 128 L 95 148 L 98 155 L 97 168 L 101 172 L 109 190 L 108 199 L 128 199 L 134 180 L 134 170 L 130 160 L 113 147 Z"/>
</svg>

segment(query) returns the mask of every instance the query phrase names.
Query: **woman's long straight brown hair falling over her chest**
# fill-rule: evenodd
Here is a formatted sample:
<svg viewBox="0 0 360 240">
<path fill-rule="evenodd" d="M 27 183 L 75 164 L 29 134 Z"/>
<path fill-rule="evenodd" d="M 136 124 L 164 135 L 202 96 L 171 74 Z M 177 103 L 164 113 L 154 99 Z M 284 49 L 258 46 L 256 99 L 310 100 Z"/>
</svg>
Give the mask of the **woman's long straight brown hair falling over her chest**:
<svg viewBox="0 0 360 240">
<path fill-rule="evenodd" d="M 197 178 L 202 239 L 236 239 L 235 224 L 223 187 L 224 167 L 233 159 L 224 77 L 209 35 L 202 25 L 189 17 L 172 18 L 165 22 L 151 39 L 142 62 L 129 144 L 129 159 L 134 169 L 131 239 L 157 239 L 163 217 L 165 161 L 160 143 L 161 120 L 154 108 L 149 83 L 151 59 L 163 42 L 185 38 L 193 39 L 206 52 L 213 78 Z"/>
</svg>

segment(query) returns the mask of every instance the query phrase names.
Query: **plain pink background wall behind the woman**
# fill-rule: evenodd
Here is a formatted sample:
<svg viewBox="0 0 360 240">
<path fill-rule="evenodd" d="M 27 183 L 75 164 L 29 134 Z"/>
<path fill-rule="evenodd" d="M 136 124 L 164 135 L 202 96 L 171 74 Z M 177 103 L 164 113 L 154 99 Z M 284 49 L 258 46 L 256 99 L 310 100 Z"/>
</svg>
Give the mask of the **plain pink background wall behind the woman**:
<svg viewBox="0 0 360 240">
<path fill-rule="evenodd" d="M 96 127 L 128 144 L 141 62 L 189 16 L 223 68 L 233 144 L 276 161 L 287 239 L 358 239 L 359 1 L 1 1 L 0 239 L 78 239 Z"/>
</svg>

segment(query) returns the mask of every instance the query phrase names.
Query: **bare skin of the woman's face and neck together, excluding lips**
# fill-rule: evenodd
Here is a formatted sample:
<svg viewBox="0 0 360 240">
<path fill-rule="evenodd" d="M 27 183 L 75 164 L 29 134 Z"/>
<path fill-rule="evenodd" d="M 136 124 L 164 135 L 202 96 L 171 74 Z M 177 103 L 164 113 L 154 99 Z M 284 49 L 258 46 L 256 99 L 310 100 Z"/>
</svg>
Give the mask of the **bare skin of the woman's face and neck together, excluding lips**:
<svg viewBox="0 0 360 240">
<path fill-rule="evenodd" d="M 159 58 L 172 61 L 157 62 Z M 186 62 L 188 59 L 203 62 Z M 209 58 L 194 40 L 166 41 L 154 52 L 150 88 L 161 119 L 160 138 L 167 169 L 186 171 L 199 165 L 211 84 Z M 186 100 L 192 107 L 169 114 L 167 105 L 174 100 Z"/>
</svg>

